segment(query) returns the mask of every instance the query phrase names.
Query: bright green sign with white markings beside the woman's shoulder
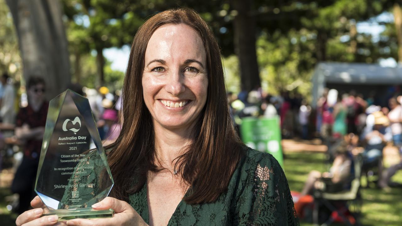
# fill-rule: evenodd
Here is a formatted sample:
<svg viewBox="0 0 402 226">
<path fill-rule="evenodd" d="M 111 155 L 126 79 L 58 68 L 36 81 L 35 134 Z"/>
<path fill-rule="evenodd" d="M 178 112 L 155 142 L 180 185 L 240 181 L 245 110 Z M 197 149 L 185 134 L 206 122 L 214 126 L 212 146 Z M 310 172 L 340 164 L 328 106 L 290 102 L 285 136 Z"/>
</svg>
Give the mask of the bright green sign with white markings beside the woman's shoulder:
<svg viewBox="0 0 402 226">
<path fill-rule="evenodd" d="M 242 118 L 240 133 L 244 144 L 260 152 L 272 154 L 283 168 L 279 117 Z"/>
</svg>

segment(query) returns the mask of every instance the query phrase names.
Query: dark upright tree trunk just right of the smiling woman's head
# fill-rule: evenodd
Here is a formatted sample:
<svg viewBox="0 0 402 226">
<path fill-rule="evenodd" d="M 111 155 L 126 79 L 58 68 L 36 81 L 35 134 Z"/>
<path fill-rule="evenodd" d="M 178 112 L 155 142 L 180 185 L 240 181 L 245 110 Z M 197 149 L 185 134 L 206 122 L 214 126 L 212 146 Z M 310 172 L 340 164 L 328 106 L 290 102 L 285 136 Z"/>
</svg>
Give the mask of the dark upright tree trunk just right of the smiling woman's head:
<svg viewBox="0 0 402 226">
<path fill-rule="evenodd" d="M 232 0 L 234 10 L 234 45 L 240 62 L 242 90 L 250 91 L 261 86 L 256 53 L 256 21 L 251 14 L 252 1 Z"/>
</svg>

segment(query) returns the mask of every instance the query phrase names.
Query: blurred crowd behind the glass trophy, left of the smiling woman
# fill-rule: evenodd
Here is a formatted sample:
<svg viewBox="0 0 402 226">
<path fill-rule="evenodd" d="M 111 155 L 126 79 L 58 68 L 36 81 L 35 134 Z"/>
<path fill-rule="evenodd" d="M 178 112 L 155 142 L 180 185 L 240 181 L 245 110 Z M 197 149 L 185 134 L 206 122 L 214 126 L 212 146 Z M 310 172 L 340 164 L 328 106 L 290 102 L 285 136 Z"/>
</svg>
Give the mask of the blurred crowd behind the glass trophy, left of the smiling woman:
<svg viewBox="0 0 402 226">
<path fill-rule="evenodd" d="M 46 81 L 31 76 L 25 87 L 13 83 L 7 74 L 0 78 L 0 172 L 12 168 L 14 194 L 9 210 L 22 213 L 30 208 L 45 132 L 48 100 Z M 69 89 L 88 98 L 103 145 L 113 143 L 121 130 L 119 90 L 112 92 L 102 86 L 97 89 L 70 84 Z M 25 92 L 20 92 L 21 90 Z"/>
</svg>

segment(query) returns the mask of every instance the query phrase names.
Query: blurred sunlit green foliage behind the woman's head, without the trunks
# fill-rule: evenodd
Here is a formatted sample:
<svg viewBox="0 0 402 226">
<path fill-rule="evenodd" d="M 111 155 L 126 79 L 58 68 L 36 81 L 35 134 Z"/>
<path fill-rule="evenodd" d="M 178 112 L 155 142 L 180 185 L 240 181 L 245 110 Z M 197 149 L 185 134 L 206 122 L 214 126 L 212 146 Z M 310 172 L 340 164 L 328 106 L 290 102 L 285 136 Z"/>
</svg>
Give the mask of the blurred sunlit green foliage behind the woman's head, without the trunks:
<svg viewBox="0 0 402 226">
<path fill-rule="evenodd" d="M 228 90 L 239 90 L 238 59 L 234 56 L 232 25 L 237 12 L 233 10 L 232 1 L 62 2 L 68 18 L 66 24 L 70 51 L 82 55 L 94 49 L 130 44 L 137 29 L 156 12 L 183 6 L 194 8 L 209 23 L 222 48 Z M 387 30 L 381 34 L 382 38 L 378 42 L 374 42 L 370 35 L 351 34 L 353 24 L 389 10 L 394 2 L 254 0 L 250 13 L 256 16 L 258 27 L 256 50 L 263 89 L 273 94 L 279 93 L 280 90 L 293 90 L 309 95 L 310 78 L 320 60 L 320 42 L 323 42 L 324 59 L 327 61 L 375 63 L 380 58 L 396 58 L 398 45 L 393 25 L 386 25 Z M 319 39 L 320 35 L 324 39 Z M 107 66 L 105 72 L 106 68 Z M 105 74 L 105 80 L 107 76 Z"/>
</svg>

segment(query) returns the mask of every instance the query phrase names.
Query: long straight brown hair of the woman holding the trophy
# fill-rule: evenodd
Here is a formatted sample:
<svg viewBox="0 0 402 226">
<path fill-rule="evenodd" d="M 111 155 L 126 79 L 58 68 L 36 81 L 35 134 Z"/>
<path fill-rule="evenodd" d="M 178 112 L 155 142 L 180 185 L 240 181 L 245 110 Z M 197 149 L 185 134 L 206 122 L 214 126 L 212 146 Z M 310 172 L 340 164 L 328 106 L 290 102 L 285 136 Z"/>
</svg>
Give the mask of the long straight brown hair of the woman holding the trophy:
<svg viewBox="0 0 402 226">
<path fill-rule="evenodd" d="M 195 125 L 192 143 L 177 158 L 176 166 L 190 187 L 189 204 L 215 201 L 226 191 L 242 143 L 234 130 L 224 83 L 221 55 L 207 23 L 191 9 L 173 9 L 152 16 L 135 34 L 123 85 L 124 123 L 120 136 L 108 149 L 108 162 L 115 181 L 111 196 L 128 201 L 128 195 L 146 183 L 148 171 L 158 171 L 155 162 L 152 116 L 143 97 L 142 72 L 151 35 L 166 24 L 185 24 L 198 32 L 207 54 L 207 102 Z"/>
</svg>

